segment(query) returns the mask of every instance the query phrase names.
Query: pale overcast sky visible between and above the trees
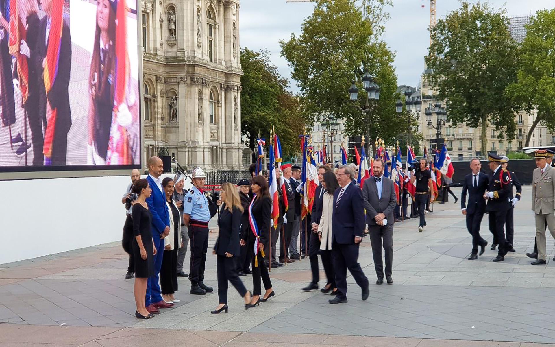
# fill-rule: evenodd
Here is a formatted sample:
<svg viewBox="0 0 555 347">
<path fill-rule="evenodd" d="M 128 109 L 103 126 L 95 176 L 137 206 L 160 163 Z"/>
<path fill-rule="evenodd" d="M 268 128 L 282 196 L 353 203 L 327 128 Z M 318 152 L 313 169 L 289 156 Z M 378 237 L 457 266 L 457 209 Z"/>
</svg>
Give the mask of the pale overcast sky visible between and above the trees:
<svg viewBox="0 0 555 347">
<path fill-rule="evenodd" d="M 473 1 L 475 2 L 475 1 Z M 555 0 L 490 0 L 493 8 L 507 9 L 509 17 L 526 16 L 538 9 L 555 7 Z M 422 8 L 422 5 L 424 6 Z M 437 18 L 460 7 L 458 0 L 437 0 Z M 291 33 L 300 34 L 304 18 L 312 14 L 311 3 L 286 3 L 285 0 L 241 0 L 240 44 L 255 51 L 268 49 L 271 61 L 282 76 L 290 79 L 291 90 L 298 88 L 291 79 L 287 61 L 280 57 L 280 39 L 289 39 Z M 423 57 L 430 43 L 429 0 L 393 0 L 391 14 L 386 23 L 384 41 L 396 52 L 395 69 L 398 84 L 416 86 L 424 68 Z"/>
</svg>

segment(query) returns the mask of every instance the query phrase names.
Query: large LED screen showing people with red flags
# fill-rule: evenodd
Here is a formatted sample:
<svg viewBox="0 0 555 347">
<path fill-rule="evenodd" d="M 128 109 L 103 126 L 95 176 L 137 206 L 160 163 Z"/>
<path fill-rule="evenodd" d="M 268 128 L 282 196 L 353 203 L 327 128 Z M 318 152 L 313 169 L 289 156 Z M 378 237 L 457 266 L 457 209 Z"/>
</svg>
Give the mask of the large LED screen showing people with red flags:
<svg viewBox="0 0 555 347">
<path fill-rule="evenodd" d="M 0 11 L 0 172 L 138 167 L 136 1 Z"/>
</svg>

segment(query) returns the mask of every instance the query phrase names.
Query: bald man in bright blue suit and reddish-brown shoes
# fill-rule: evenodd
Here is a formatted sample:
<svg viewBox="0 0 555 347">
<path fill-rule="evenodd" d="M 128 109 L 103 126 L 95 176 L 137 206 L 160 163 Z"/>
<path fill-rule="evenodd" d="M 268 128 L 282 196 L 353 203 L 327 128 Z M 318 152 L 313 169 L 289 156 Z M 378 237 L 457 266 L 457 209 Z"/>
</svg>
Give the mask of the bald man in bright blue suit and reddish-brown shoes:
<svg viewBox="0 0 555 347">
<path fill-rule="evenodd" d="M 159 313 L 158 309 L 173 306 L 173 304 L 168 304 L 162 299 L 158 281 L 164 255 L 164 238 L 170 233 L 170 220 L 168 206 L 166 205 L 166 193 L 162 188 L 162 179 L 160 179 L 160 175 L 164 173 L 162 159 L 152 157 L 148 160 L 147 165 L 149 170 L 147 181 L 150 189 L 152 189 L 150 198 L 147 198 L 147 205 L 150 213 L 152 213 L 152 239 L 157 253 L 154 255 L 154 276 L 150 277 L 147 282 L 145 306 L 150 313 Z"/>
</svg>

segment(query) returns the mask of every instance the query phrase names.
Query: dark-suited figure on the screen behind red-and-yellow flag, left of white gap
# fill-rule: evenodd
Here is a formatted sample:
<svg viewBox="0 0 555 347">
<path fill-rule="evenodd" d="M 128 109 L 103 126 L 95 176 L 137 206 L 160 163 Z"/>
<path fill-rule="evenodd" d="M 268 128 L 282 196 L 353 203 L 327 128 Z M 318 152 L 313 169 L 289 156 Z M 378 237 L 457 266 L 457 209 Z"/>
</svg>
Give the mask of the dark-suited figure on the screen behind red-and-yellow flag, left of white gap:
<svg viewBox="0 0 555 347">
<path fill-rule="evenodd" d="M 52 23 L 52 13 L 56 11 L 62 12 L 63 8 L 53 8 L 52 0 L 41 0 L 41 5 L 44 12 L 46 12 L 46 16 L 41 19 L 36 47 L 37 54 L 34 58 L 32 57 L 34 67 L 39 76 L 39 119 L 46 119 L 46 122 L 51 121 L 51 119 L 48 119 L 48 115 L 51 114 L 51 110 L 56 110 L 51 164 L 54 166 L 65 165 L 68 131 L 72 124 L 68 90 L 72 53 L 71 37 L 69 34 L 69 26 L 65 21 L 62 21 L 62 41 L 59 48 L 58 72 L 54 84 L 47 92 L 44 88 L 44 67 L 46 66 L 49 33 L 51 32 L 51 27 L 54 25 L 54 23 Z M 49 108 L 49 110 L 47 110 L 47 108 Z M 33 148 L 33 151 L 34 150 L 38 149 Z"/>
</svg>

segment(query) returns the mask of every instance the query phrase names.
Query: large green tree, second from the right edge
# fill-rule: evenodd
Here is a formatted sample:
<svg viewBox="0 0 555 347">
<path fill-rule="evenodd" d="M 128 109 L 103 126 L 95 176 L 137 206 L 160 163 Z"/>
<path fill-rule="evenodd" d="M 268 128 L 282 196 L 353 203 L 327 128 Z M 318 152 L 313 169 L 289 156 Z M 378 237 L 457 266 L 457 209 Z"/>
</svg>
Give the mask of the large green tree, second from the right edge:
<svg viewBox="0 0 555 347">
<path fill-rule="evenodd" d="M 447 100 L 453 125 L 481 127 L 481 150 L 487 152 L 488 124 L 495 124 L 507 140 L 514 138 L 516 107 L 505 93 L 516 81 L 517 43 L 509 32 L 504 11 L 487 4 L 462 2 L 431 29 L 427 75 L 437 97 Z"/>
</svg>

